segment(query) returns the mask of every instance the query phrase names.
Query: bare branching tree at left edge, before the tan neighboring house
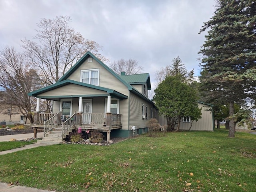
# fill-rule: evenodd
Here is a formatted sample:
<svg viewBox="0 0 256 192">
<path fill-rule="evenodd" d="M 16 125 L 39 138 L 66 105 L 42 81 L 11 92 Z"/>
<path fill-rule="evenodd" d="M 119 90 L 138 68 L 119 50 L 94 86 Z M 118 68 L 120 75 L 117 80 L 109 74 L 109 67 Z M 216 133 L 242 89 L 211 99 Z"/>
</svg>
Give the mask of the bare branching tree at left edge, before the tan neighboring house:
<svg viewBox="0 0 256 192">
<path fill-rule="evenodd" d="M 33 123 L 32 111 L 36 108 L 36 98 L 28 96 L 42 87 L 36 70 L 14 48 L 6 47 L 0 51 L 1 100 L 17 106 L 20 112 Z"/>
</svg>

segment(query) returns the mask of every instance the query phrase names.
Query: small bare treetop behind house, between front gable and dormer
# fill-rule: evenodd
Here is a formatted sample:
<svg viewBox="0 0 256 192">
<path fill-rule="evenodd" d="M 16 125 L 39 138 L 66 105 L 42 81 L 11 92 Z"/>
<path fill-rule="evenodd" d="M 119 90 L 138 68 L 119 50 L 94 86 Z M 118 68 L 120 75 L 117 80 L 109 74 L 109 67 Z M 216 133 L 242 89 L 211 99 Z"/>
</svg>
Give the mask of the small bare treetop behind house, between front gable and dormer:
<svg viewBox="0 0 256 192">
<path fill-rule="evenodd" d="M 120 59 L 110 63 L 109 66 L 118 75 L 120 75 L 121 72 L 126 72 L 126 75 L 131 75 L 131 74 L 138 74 L 143 71 L 143 67 L 139 66 L 138 63 L 139 62 L 135 59 L 128 59 L 128 60 Z"/>
</svg>

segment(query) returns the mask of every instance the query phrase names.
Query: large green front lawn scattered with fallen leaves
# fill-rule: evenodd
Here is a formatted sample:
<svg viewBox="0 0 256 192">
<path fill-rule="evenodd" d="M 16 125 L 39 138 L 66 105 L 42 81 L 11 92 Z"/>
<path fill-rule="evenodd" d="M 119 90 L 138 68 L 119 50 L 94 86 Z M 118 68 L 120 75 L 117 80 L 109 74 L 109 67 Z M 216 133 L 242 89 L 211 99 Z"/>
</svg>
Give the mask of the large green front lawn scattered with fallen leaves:
<svg viewBox="0 0 256 192">
<path fill-rule="evenodd" d="M 111 146 L 32 148 L 0 156 L 0 181 L 58 192 L 255 191 L 256 135 L 227 136 L 170 132 Z"/>
</svg>

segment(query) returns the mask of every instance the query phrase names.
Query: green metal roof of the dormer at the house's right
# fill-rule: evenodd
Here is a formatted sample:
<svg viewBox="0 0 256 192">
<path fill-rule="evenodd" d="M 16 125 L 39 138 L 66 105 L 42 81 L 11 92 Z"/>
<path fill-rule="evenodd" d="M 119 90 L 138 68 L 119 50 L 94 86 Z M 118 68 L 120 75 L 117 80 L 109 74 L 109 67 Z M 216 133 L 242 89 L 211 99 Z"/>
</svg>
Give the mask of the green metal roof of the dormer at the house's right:
<svg viewBox="0 0 256 192">
<path fill-rule="evenodd" d="M 120 78 L 122 78 L 124 81 L 128 82 L 130 85 L 146 84 L 148 86 L 148 90 L 151 90 L 149 73 L 120 75 Z"/>
</svg>

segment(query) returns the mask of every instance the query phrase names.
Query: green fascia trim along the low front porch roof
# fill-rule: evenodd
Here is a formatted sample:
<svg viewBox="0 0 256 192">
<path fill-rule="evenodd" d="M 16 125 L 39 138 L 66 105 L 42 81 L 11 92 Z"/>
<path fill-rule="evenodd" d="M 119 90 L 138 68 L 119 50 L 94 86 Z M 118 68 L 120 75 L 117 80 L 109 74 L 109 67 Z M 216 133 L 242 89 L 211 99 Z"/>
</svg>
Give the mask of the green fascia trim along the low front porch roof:
<svg viewBox="0 0 256 192">
<path fill-rule="evenodd" d="M 28 93 L 28 95 L 29 96 L 37 96 L 38 94 L 41 94 L 41 93 L 44 93 L 44 92 L 47 92 L 47 91 L 50 91 L 50 90 L 54 90 L 56 88 L 60 88 L 60 87 L 65 86 L 67 84 L 76 84 L 76 85 L 80 85 L 80 86 L 84 86 L 84 87 L 88 87 L 88 88 L 93 88 L 93 89 L 96 89 L 96 90 L 106 91 L 107 93 L 113 94 L 114 96 L 117 96 L 117 97 L 122 98 L 122 99 L 127 99 L 128 98 L 128 96 L 126 96 L 126 95 L 124 95 L 120 92 L 117 92 L 115 90 L 112 90 L 112 89 L 108 89 L 108 88 L 104 88 L 104 87 L 100 87 L 100 86 L 96 86 L 96 85 L 91 85 L 91 84 L 87 84 L 87 83 L 82 83 L 82 82 L 78 82 L 78 81 L 74 81 L 74 80 L 70 80 L 70 79 L 63 80 L 62 82 L 57 82 L 53 85 L 41 88 L 41 89 L 36 90 L 34 92 L 30 92 L 30 93 Z M 56 97 L 56 96 L 54 96 L 54 97 Z"/>
</svg>

